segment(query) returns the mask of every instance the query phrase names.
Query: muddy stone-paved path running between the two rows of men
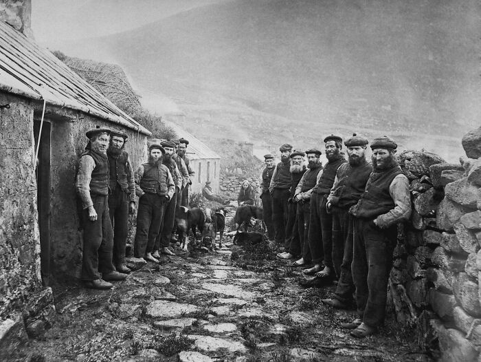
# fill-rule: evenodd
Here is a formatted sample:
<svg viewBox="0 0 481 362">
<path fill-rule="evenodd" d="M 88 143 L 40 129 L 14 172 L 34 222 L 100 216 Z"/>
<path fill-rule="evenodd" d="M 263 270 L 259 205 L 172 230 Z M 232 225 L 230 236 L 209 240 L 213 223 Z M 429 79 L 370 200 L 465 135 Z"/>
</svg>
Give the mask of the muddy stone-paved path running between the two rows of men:
<svg viewBox="0 0 481 362">
<path fill-rule="evenodd" d="M 218 253 L 162 257 L 113 290 L 57 290 L 56 324 L 21 360 L 429 361 L 395 323 L 350 337 L 339 323 L 353 312 L 320 303 L 333 287 L 301 288 L 300 269 L 274 255 L 228 239 Z"/>
</svg>

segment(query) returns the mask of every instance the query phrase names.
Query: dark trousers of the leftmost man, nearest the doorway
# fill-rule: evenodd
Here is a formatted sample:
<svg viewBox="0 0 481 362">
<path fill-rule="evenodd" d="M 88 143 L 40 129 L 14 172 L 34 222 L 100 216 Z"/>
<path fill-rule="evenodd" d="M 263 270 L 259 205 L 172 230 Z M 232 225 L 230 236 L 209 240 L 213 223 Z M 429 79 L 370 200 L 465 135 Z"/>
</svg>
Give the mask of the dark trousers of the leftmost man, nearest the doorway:
<svg viewBox="0 0 481 362">
<path fill-rule="evenodd" d="M 82 210 L 84 244 L 82 249 L 82 280 L 100 279 L 100 273 L 109 274 L 112 264 L 113 231 L 109 215 L 109 198 L 91 195 L 97 220 L 89 220 L 88 209 Z M 99 273 L 100 272 L 100 273 Z"/>
</svg>

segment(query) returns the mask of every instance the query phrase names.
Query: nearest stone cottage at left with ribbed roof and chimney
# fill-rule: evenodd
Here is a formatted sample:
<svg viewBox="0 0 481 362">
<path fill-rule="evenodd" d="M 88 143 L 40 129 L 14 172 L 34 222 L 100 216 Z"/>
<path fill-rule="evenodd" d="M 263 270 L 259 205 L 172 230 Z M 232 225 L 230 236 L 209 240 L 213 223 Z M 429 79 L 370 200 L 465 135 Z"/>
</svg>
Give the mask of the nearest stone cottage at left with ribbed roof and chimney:
<svg viewBox="0 0 481 362">
<path fill-rule="evenodd" d="M 150 132 L 25 35 L 29 0 L 1 7 L 0 349 L 7 353 L 2 341 L 12 328 L 25 323 L 34 333 L 55 312 L 52 291 L 42 284 L 80 276 L 74 178 L 85 131 L 124 130 L 134 167 L 146 158 Z"/>
</svg>

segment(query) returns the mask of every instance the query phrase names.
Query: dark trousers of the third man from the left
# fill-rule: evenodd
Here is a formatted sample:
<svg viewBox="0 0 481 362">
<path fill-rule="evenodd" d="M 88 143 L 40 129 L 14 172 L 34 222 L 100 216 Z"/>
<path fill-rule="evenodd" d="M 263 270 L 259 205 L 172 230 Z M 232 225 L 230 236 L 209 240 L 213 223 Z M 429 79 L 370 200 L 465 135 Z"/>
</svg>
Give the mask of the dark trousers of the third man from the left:
<svg viewBox="0 0 481 362">
<path fill-rule="evenodd" d="M 144 193 L 139 198 L 137 231 L 135 232 L 135 243 L 133 246 L 133 255 L 135 257 L 144 257 L 146 253 L 153 252 L 155 239 L 159 235 L 160 225 L 164 218 L 164 204 L 166 201 L 165 196 L 154 193 Z"/>
</svg>

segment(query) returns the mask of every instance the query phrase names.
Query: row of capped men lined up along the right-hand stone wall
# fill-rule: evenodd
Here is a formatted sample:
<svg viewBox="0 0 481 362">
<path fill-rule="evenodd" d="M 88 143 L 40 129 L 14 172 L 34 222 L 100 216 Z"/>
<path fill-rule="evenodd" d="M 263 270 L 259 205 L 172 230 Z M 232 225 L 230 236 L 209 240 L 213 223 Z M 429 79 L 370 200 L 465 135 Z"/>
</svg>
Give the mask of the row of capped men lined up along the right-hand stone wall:
<svg viewBox="0 0 481 362">
<path fill-rule="evenodd" d="M 394 156 L 396 142 L 388 136 L 370 144 L 353 134 L 344 145 L 331 134 L 322 151 L 280 147 L 281 161 L 265 155 L 262 209 L 269 239 L 284 246 L 282 259 L 293 266 L 311 266 L 303 273 L 337 288 L 325 304 L 347 309 L 355 301 L 359 318 L 343 323 L 354 337 L 377 332 L 384 321 L 388 277 L 396 246 L 396 225 L 409 219 L 409 181 Z M 308 164 L 304 166 L 307 157 Z"/>
</svg>

